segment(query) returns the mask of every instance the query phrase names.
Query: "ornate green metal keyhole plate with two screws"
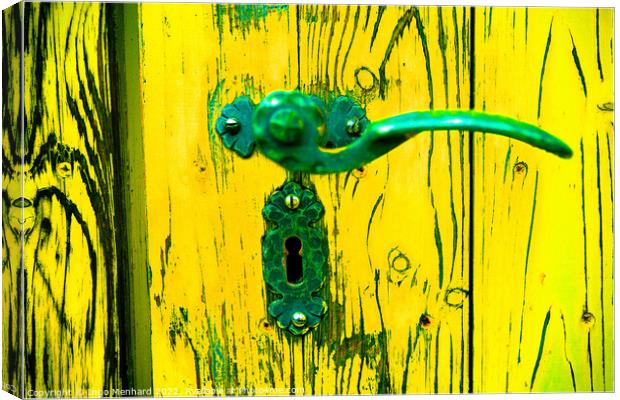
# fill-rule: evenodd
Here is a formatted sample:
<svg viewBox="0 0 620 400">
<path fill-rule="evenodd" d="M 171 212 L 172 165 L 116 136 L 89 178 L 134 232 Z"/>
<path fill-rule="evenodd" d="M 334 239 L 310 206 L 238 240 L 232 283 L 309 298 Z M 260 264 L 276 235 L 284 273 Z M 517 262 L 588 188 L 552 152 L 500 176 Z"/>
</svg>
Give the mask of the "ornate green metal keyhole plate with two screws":
<svg viewBox="0 0 620 400">
<path fill-rule="evenodd" d="M 293 181 L 274 191 L 263 208 L 263 277 L 275 300 L 267 307 L 280 328 L 303 335 L 316 327 L 327 303 L 319 296 L 327 268 L 325 209 L 316 192 Z"/>
</svg>

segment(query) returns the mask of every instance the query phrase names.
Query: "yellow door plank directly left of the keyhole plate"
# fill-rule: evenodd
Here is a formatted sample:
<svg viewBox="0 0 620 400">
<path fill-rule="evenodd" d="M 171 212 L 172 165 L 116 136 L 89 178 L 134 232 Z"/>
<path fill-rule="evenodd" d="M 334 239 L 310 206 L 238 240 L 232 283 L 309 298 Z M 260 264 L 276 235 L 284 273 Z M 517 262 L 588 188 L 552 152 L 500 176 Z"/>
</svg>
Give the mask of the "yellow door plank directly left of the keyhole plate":
<svg viewBox="0 0 620 400">
<path fill-rule="evenodd" d="M 261 210 L 286 175 L 215 133 L 235 97 L 297 82 L 294 21 L 288 6 L 140 6 L 155 395 L 294 384 L 260 256 Z"/>
</svg>

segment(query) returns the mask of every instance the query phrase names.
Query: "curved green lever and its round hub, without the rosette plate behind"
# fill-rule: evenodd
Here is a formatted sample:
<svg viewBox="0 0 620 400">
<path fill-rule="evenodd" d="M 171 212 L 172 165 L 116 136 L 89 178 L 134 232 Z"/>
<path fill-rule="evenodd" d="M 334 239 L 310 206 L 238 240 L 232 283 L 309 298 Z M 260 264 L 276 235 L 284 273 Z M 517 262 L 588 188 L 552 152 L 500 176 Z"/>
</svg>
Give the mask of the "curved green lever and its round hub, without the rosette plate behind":
<svg viewBox="0 0 620 400">
<path fill-rule="evenodd" d="M 566 143 L 534 125 L 469 110 L 411 112 L 386 118 L 368 124 L 350 144 L 327 149 L 320 146 L 327 130 L 325 117 L 316 98 L 297 91 L 278 91 L 253 110 L 251 131 L 259 150 L 268 158 L 291 171 L 317 174 L 359 168 L 421 132 L 438 130 L 494 133 L 563 158 L 572 156 Z"/>
</svg>

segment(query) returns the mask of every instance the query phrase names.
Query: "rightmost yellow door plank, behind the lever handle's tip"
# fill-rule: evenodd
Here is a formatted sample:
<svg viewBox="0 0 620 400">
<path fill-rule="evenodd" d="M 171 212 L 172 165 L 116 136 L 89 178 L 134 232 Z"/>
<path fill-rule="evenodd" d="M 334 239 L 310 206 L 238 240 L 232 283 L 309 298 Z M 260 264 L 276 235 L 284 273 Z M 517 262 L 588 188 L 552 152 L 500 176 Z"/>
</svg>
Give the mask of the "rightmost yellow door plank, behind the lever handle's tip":
<svg viewBox="0 0 620 400">
<path fill-rule="evenodd" d="M 475 106 L 571 160 L 474 148 L 474 391 L 613 390 L 613 10 L 480 8 Z"/>
</svg>

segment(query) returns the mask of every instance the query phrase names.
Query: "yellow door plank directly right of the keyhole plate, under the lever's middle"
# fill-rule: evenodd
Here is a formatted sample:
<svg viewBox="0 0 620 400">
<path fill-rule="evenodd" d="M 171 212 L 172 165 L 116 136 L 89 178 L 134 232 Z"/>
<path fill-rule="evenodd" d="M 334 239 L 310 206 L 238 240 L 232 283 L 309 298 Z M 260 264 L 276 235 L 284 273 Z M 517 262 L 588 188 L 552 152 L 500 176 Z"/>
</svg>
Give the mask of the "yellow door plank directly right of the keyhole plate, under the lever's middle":
<svg viewBox="0 0 620 400">
<path fill-rule="evenodd" d="M 304 6 L 298 21 L 304 92 L 348 94 L 371 120 L 468 107 L 466 9 Z M 303 346 L 311 393 L 468 390 L 468 148 L 435 136 L 311 177 L 330 253 L 330 312 Z"/>
</svg>

